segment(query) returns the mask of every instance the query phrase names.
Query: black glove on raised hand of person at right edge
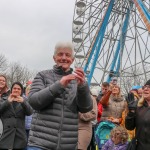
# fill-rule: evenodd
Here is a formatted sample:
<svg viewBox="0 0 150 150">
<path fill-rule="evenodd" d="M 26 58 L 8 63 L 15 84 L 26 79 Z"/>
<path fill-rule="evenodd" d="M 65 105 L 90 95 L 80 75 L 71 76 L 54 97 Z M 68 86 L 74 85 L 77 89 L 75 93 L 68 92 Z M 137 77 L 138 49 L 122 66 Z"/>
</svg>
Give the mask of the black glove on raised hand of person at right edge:
<svg viewBox="0 0 150 150">
<path fill-rule="evenodd" d="M 128 93 L 128 96 L 126 97 L 126 101 L 128 103 L 128 109 L 135 111 L 137 107 L 137 101 L 134 100 L 133 93 Z"/>
</svg>

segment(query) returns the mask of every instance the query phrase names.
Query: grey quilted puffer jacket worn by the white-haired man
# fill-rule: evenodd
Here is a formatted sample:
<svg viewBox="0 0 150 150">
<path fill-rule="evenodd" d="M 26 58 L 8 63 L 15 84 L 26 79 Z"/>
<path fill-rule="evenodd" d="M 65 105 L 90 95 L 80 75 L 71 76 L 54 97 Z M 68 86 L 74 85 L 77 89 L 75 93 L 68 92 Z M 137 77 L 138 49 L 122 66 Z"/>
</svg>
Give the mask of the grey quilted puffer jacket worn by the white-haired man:
<svg viewBox="0 0 150 150">
<path fill-rule="evenodd" d="M 29 94 L 33 114 L 29 146 L 45 150 L 75 150 L 78 137 L 78 111 L 92 109 L 87 84 L 77 87 L 75 80 L 63 88 L 59 80 L 65 73 L 54 66 L 35 77 Z"/>
</svg>

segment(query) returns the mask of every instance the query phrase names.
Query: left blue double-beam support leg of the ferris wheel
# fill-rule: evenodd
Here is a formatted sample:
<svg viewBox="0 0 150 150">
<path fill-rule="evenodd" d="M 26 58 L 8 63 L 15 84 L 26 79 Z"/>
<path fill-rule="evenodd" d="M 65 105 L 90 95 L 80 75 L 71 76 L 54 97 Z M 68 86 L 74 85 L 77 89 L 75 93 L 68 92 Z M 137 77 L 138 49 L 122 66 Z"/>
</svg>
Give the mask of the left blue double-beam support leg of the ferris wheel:
<svg viewBox="0 0 150 150">
<path fill-rule="evenodd" d="M 91 66 L 90 73 L 87 75 L 87 79 L 88 79 L 87 82 L 88 82 L 89 85 L 91 83 L 91 79 L 92 79 L 92 76 L 93 76 L 94 68 L 96 66 L 96 61 L 98 59 L 100 48 L 101 48 L 101 45 L 102 45 L 102 42 L 103 42 L 104 33 L 105 33 L 105 30 L 106 30 L 106 24 L 108 23 L 108 20 L 109 20 L 110 14 L 111 14 L 111 10 L 113 9 L 114 2 L 115 2 L 115 0 L 111 0 L 109 2 L 109 5 L 107 7 L 107 11 L 106 11 L 105 16 L 104 16 L 104 18 L 102 20 L 102 23 L 100 25 L 98 35 L 97 35 L 96 40 L 95 40 L 95 42 L 94 42 L 94 44 L 92 46 L 92 50 L 91 50 L 90 55 L 89 55 L 89 57 L 87 59 L 87 63 L 85 65 L 85 67 L 84 67 L 84 72 L 87 72 L 90 60 L 91 60 L 92 56 L 94 55 L 94 51 L 96 49 L 96 52 L 95 52 L 95 55 L 94 55 L 94 61 L 93 61 L 92 66 Z"/>
</svg>

